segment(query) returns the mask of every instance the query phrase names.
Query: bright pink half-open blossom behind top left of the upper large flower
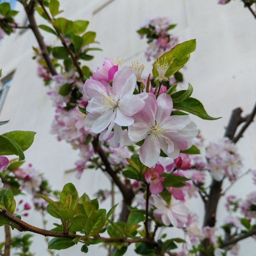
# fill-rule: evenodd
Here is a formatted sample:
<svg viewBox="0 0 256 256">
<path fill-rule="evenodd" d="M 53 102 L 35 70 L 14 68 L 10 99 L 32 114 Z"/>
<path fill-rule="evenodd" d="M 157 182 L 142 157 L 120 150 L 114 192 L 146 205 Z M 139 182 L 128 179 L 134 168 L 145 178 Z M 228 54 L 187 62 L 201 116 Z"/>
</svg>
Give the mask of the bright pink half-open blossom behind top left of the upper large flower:
<svg viewBox="0 0 256 256">
<path fill-rule="evenodd" d="M 93 71 L 92 79 L 95 79 L 99 82 L 105 81 L 109 83 L 113 81 L 114 75 L 117 70 L 118 70 L 118 66 L 114 65 L 110 59 L 106 58 L 103 62 L 103 66 L 101 68 L 97 67 Z"/>
</svg>

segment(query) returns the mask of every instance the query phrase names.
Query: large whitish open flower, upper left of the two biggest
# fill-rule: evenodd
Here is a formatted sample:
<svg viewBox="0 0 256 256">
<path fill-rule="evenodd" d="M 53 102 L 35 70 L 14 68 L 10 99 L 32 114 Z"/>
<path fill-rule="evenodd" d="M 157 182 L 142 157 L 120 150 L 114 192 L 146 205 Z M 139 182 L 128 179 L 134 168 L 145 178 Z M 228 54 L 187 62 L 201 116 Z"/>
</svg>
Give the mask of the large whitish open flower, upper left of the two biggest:
<svg viewBox="0 0 256 256">
<path fill-rule="evenodd" d="M 113 86 L 89 79 L 84 84 L 84 92 L 90 98 L 86 108 L 89 113 L 85 125 L 94 133 L 100 133 L 108 127 L 103 139 L 113 129 L 120 132 L 118 126 L 130 126 L 134 123 L 133 115 L 140 111 L 145 101 L 139 95 L 133 95 L 136 76 L 131 68 L 123 66 L 113 79 Z"/>
</svg>

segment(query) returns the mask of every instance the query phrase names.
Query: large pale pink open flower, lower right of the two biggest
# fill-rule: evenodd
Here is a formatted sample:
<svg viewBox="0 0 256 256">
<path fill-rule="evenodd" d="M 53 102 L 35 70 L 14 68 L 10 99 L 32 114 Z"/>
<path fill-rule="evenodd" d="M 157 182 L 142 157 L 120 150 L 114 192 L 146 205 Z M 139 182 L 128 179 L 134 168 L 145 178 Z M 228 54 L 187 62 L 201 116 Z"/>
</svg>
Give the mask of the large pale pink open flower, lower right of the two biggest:
<svg viewBox="0 0 256 256">
<path fill-rule="evenodd" d="M 171 158 L 177 158 L 180 150 L 186 150 L 193 145 L 192 139 L 198 130 L 189 116 L 170 116 L 172 99 L 162 93 L 156 100 L 149 93 L 145 107 L 133 116 L 135 122 L 128 127 L 131 141 L 145 139 L 140 147 L 140 161 L 148 166 L 154 166 L 159 158 L 161 149 Z"/>
</svg>

